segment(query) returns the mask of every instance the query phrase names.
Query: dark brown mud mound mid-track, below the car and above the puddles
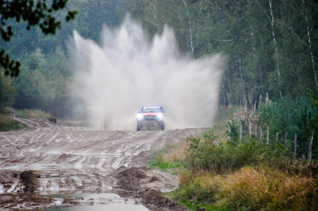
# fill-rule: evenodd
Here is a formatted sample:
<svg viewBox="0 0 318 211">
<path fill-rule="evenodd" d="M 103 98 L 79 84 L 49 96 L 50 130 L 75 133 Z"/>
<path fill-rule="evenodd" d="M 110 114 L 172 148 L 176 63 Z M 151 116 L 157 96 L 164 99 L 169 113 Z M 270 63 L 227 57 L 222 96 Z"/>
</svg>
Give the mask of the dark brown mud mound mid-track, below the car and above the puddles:
<svg viewBox="0 0 318 211">
<path fill-rule="evenodd" d="M 127 191 L 138 191 L 140 190 L 140 185 L 142 180 L 148 178 L 144 171 L 146 167 L 132 167 L 124 168 L 121 167 L 118 169 L 119 173 L 115 175 L 115 178 L 118 179 L 117 187 Z"/>
</svg>

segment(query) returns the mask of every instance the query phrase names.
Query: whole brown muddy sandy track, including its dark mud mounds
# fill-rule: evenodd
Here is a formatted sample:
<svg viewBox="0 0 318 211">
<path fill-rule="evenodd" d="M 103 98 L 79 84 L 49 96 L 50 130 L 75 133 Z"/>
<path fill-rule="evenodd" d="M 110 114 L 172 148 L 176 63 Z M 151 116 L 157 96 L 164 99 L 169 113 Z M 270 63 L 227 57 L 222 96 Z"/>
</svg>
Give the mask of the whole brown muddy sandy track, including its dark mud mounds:
<svg viewBox="0 0 318 211">
<path fill-rule="evenodd" d="M 0 210 L 120 201 L 38 196 L 66 193 L 116 193 L 151 210 L 184 210 L 161 196 L 178 177 L 146 166 L 152 151 L 206 128 L 102 131 L 87 123 L 17 120 L 28 128 L 0 133 Z"/>
</svg>

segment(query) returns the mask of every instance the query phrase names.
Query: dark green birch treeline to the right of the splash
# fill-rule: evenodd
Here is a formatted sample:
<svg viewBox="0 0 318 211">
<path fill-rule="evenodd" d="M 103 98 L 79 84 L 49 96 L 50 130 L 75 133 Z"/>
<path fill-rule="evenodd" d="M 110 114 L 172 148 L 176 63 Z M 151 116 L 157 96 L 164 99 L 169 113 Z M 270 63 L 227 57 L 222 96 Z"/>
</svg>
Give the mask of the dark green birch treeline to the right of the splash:
<svg viewBox="0 0 318 211">
<path fill-rule="evenodd" d="M 135 15 L 149 31 L 167 23 L 183 51 L 195 58 L 223 52 L 228 57 L 220 103 L 258 108 L 295 98 L 309 88 L 318 93 L 318 4 L 311 0 L 139 1 Z"/>
</svg>

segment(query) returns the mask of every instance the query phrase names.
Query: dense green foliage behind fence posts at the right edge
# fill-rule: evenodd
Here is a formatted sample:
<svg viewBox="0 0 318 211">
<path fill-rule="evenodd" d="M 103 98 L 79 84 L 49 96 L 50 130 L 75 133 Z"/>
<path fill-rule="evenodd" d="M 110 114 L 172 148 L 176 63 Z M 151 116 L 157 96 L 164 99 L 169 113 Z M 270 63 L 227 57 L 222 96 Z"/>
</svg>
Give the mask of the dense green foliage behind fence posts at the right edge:
<svg viewBox="0 0 318 211">
<path fill-rule="evenodd" d="M 280 141 L 294 156 L 294 138 L 297 134 L 296 158 L 307 158 L 308 144 L 311 132 L 314 131 L 314 139 L 317 136 L 317 107 L 313 106 L 310 99 L 298 96 L 296 99 L 283 97 L 275 102 L 263 104 L 259 112 L 255 114 L 258 119 L 258 135 L 254 136 L 260 142 L 266 142 L 266 129 L 269 131 L 269 143 Z M 260 136 L 259 133 L 263 133 Z M 255 133 L 254 133 L 255 134 Z M 260 138 L 262 137 L 262 138 Z M 318 159 L 318 144 L 313 142 L 313 158 Z"/>
</svg>

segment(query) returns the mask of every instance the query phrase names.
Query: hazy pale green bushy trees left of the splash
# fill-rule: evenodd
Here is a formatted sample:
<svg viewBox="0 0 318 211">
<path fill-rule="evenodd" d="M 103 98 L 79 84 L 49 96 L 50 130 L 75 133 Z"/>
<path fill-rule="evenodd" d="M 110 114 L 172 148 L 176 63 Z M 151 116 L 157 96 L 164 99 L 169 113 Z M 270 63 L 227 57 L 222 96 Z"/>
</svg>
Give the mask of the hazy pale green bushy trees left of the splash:
<svg viewBox="0 0 318 211">
<path fill-rule="evenodd" d="M 68 84 L 71 70 L 65 52 L 60 46 L 48 55 L 36 49 L 23 58 L 21 75 L 14 80 L 17 95 L 14 107 L 41 109 L 63 117 L 68 114 L 70 93 Z"/>
</svg>

